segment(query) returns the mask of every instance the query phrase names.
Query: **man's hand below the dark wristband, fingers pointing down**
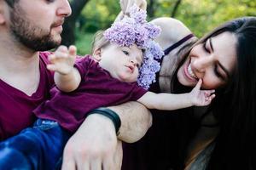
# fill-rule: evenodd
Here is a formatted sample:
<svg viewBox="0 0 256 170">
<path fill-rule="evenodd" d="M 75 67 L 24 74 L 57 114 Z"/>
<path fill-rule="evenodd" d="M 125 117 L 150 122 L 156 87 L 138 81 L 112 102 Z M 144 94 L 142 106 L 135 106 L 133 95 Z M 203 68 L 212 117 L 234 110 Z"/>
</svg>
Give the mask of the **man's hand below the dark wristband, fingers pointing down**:
<svg viewBox="0 0 256 170">
<path fill-rule="evenodd" d="M 88 116 L 67 142 L 62 170 L 118 170 L 122 144 L 117 140 L 113 122 L 106 116 Z"/>
</svg>

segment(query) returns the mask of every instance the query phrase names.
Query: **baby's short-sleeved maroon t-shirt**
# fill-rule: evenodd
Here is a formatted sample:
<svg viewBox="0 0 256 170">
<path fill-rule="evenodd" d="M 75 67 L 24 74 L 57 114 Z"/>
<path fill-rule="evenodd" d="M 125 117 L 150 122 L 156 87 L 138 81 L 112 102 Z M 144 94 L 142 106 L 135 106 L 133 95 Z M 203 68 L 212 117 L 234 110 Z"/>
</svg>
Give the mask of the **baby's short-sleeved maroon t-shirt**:
<svg viewBox="0 0 256 170">
<path fill-rule="evenodd" d="M 82 78 L 79 88 L 72 93 L 52 88 L 50 99 L 34 111 L 40 118 L 59 122 L 69 132 L 79 127 L 89 111 L 137 100 L 147 92 L 137 82 L 120 82 L 111 77 L 90 56 L 78 59 L 75 66 Z"/>
</svg>

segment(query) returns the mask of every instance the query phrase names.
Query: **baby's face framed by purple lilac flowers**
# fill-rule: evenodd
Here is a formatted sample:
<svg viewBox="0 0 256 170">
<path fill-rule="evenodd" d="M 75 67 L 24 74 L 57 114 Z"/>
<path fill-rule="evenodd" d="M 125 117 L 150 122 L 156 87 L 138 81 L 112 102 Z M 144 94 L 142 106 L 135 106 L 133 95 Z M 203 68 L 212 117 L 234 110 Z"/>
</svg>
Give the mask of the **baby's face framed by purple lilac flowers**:
<svg viewBox="0 0 256 170">
<path fill-rule="evenodd" d="M 102 48 L 101 67 L 121 82 L 137 82 L 138 69 L 143 62 L 143 51 L 136 44 L 131 47 L 120 47 L 110 43 Z"/>
</svg>

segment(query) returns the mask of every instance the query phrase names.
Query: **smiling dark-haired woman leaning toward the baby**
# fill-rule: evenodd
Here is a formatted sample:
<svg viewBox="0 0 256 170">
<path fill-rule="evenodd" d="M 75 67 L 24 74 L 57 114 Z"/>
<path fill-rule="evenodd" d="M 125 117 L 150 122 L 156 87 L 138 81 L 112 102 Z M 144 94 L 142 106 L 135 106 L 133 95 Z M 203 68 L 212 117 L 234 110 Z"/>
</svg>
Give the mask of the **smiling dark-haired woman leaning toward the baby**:
<svg viewBox="0 0 256 170">
<path fill-rule="evenodd" d="M 152 22 L 166 49 L 152 90 L 184 93 L 201 78 L 216 99 L 180 114 L 152 111 L 153 127 L 126 146 L 123 169 L 255 169 L 256 17 L 232 20 L 198 41 L 177 20 Z"/>
</svg>

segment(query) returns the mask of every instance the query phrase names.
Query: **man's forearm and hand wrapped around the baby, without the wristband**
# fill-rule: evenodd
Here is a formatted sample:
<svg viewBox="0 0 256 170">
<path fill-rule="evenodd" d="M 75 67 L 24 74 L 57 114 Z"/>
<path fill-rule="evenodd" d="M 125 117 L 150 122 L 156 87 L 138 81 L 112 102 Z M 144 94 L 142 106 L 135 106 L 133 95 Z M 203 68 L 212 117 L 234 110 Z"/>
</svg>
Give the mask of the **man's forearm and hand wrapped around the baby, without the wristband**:
<svg viewBox="0 0 256 170">
<path fill-rule="evenodd" d="M 137 102 L 109 107 L 121 120 L 119 139 L 135 142 L 141 139 L 152 124 L 150 112 Z M 68 140 L 63 155 L 63 170 L 120 169 L 121 142 L 113 122 L 100 114 L 89 115 L 79 130 Z M 88 168 L 87 168 L 88 167 Z"/>
</svg>

